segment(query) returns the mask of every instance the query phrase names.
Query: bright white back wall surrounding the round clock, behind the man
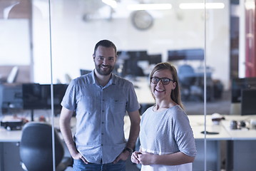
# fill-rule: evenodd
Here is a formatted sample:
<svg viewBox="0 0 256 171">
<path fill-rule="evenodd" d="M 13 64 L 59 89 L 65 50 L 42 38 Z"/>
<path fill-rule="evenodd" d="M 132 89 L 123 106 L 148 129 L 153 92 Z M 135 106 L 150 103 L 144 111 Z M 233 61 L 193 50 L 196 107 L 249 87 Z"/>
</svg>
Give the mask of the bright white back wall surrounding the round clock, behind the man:
<svg viewBox="0 0 256 171">
<path fill-rule="evenodd" d="M 131 12 L 123 7 L 117 9 L 109 19 L 108 15 L 103 14 L 108 9 L 100 6 L 100 10 L 91 10 L 96 11 L 97 14 L 92 14 L 96 17 L 85 21 L 83 15 L 88 10 L 87 4 L 83 4 L 85 1 L 51 1 L 51 39 L 48 1 L 33 2 L 34 61 L 31 61 L 31 66 L 34 68 L 34 82 L 51 82 L 51 55 L 55 83 L 66 83 L 65 74 L 76 78 L 80 75 L 80 68 L 94 68 L 93 48 L 103 38 L 116 43 L 118 50 L 143 49 L 148 53 L 162 53 L 163 61 L 167 58 L 168 50 L 204 48 L 206 40 L 207 65 L 213 69 L 213 78 L 220 79 L 226 89 L 229 87 L 230 7 L 227 0 L 223 1 L 225 9 L 206 12 L 206 28 L 203 10 L 181 10 L 178 9 L 181 1 L 171 1 L 171 10 L 150 11 L 154 24 L 146 31 L 133 26 Z M 202 65 L 192 64 L 195 67 Z"/>
</svg>

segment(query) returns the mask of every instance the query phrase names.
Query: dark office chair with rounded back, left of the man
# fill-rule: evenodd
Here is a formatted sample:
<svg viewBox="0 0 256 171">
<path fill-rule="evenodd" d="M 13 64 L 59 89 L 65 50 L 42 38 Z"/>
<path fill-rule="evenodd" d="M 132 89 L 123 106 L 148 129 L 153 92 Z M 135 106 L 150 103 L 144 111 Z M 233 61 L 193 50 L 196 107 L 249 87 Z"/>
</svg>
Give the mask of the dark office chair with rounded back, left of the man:
<svg viewBox="0 0 256 171">
<path fill-rule="evenodd" d="M 58 133 L 55 135 L 56 170 L 65 170 L 71 166 L 71 157 L 64 157 L 64 148 Z M 19 147 L 21 166 L 29 171 L 53 170 L 51 125 L 30 122 L 24 125 Z"/>
</svg>

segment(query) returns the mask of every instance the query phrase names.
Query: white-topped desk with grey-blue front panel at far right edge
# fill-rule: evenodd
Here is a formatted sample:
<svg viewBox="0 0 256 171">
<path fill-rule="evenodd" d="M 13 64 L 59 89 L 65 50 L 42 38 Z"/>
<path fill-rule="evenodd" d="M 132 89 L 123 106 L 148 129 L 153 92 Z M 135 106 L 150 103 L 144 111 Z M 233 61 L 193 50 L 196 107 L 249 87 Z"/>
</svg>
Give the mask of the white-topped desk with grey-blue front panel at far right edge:
<svg viewBox="0 0 256 171">
<path fill-rule="evenodd" d="M 256 119 L 256 115 L 227 115 L 225 118 L 222 125 L 231 137 L 231 140 L 227 141 L 226 170 L 255 170 L 256 130 L 232 130 L 230 120 L 245 120 L 250 123 L 250 119 Z"/>
</svg>

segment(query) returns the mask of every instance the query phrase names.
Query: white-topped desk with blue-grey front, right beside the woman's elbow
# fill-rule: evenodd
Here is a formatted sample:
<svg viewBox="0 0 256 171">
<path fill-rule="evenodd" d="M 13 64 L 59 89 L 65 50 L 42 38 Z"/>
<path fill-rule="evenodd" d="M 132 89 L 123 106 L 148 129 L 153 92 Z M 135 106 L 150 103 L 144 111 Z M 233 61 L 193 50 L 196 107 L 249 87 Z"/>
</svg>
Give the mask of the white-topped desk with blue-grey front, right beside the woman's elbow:
<svg viewBox="0 0 256 171">
<path fill-rule="evenodd" d="M 214 125 L 211 115 L 206 116 L 206 130 L 217 132 L 216 135 L 204 135 L 205 130 L 204 115 L 188 115 L 191 128 L 193 129 L 195 145 L 198 154 L 193 162 L 193 170 L 203 170 L 205 161 L 205 138 L 206 138 L 206 168 L 207 170 L 220 170 L 223 155 L 223 143 L 230 140 L 230 134 L 220 125 Z"/>
</svg>

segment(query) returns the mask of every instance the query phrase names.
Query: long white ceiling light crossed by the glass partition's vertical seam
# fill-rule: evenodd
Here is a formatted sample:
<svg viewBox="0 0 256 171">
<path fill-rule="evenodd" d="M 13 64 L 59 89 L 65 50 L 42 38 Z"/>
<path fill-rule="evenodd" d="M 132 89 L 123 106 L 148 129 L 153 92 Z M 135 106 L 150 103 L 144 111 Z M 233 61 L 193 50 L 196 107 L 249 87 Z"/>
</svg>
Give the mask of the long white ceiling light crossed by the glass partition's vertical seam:
<svg viewBox="0 0 256 171">
<path fill-rule="evenodd" d="M 223 3 L 181 3 L 180 9 L 224 9 Z"/>
</svg>

